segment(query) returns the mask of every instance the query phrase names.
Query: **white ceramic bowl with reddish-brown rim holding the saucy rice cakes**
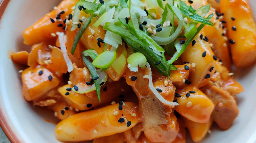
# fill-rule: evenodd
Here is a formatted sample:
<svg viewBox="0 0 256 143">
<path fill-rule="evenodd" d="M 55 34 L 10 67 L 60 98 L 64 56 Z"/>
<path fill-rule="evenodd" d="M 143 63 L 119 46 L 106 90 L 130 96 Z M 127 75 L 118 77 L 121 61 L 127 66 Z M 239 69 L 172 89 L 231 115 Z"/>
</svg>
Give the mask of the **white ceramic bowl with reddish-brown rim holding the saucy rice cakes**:
<svg viewBox="0 0 256 143">
<path fill-rule="evenodd" d="M 0 4 L 0 124 L 11 142 L 58 143 L 54 135 L 53 112 L 33 107 L 22 95 L 22 67 L 12 63 L 10 52 L 30 51 L 23 44 L 22 31 L 53 9 L 60 0 L 3 0 Z M 250 0 L 254 16 L 256 2 Z M 237 95 L 240 113 L 232 127 L 211 128 L 203 143 L 253 143 L 256 141 L 256 66 L 234 71 L 245 92 Z M 51 115 L 51 116 L 49 116 Z M 187 135 L 189 136 L 189 135 Z M 192 142 L 188 138 L 187 142 Z"/>
</svg>

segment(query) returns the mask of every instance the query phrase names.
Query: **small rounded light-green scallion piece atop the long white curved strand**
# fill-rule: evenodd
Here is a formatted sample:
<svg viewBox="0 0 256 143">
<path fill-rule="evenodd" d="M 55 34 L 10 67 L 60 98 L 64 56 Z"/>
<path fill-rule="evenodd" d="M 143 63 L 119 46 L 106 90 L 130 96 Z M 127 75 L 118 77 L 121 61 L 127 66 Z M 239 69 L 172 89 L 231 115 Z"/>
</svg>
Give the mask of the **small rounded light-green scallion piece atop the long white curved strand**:
<svg viewBox="0 0 256 143">
<path fill-rule="evenodd" d="M 128 67 L 130 71 L 139 71 L 138 66 L 140 68 L 144 68 L 147 63 L 147 59 L 142 53 L 137 52 L 127 58 L 127 63 L 130 64 Z"/>
</svg>

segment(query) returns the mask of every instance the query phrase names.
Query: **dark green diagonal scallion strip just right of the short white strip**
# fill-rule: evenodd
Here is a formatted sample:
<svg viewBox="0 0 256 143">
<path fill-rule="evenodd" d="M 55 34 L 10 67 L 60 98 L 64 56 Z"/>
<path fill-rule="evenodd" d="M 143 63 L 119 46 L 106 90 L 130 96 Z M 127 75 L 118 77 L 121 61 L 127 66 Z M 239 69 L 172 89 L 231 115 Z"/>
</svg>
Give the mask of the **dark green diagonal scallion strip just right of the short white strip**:
<svg viewBox="0 0 256 143">
<path fill-rule="evenodd" d="M 91 23 L 91 20 L 92 20 L 92 17 L 93 15 L 90 15 L 88 18 L 86 18 L 84 21 L 83 21 L 83 25 L 82 27 L 77 31 L 76 35 L 75 35 L 75 40 L 74 40 L 74 43 L 72 45 L 72 49 L 71 49 L 71 54 L 73 55 L 75 53 L 75 49 L 76 49 L 76 46 L 80 40 L 80 38 L 82 37 L 85 29 L 88 27 L 88 25 Z"/>
</svg>

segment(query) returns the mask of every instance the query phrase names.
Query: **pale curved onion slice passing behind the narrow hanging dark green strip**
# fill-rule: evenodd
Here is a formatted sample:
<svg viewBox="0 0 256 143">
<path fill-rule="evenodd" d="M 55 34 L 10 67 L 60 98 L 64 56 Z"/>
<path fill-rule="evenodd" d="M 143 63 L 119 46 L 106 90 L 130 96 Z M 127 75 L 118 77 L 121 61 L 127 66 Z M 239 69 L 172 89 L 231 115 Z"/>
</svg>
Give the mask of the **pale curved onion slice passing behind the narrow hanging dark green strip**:
<svg viewBox="0 0 256 143">
<path fill-rule="evenodd" d="M 100 69 L 98 69 L 96 72 L 99 75 L 99 83 L 101 84 L 100 86 L 103 86 L 106 83 L 107 79 L 108 79 L 108 75 L 107 75 L 106 72 L 101 71 Z M 78 87 L 77 91 L 74 89 L 74 87 L 72 88 L 72 90 L 74 92 L 80 93 L 80 94 L 84 94 L 84 93 L 88 93 L 88 92 L 96 90 L 95 84 L 93 84 L 93 85 L 85 85 L 85 87 L 79 87 L 77 85 L 77 87 Z"/>
</svg>

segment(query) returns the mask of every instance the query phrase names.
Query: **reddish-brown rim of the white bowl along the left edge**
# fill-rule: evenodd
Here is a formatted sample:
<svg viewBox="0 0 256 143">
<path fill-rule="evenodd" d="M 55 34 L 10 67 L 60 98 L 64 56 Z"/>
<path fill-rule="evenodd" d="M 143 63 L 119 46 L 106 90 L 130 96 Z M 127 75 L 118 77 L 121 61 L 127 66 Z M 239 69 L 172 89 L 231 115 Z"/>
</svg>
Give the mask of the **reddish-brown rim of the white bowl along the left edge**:
<svg viewBox="0 0 256 143">
<path fill-rule="evenodd" d="M 5 8 L 9 4 L 10 0 L 2 0 L 0 3 L 0 20 L 5 12 Z M 1 94 L 1 92 L 0 92 Z M 0 126 L 2 130 L 4 131 L 7 138 L 10 140 L 11 143 L 21 143 L 19 138 L 14 134 L 11 126 L 8 124 L 3 112 L 3 109 L 0 108 Z"/>
</svg>

